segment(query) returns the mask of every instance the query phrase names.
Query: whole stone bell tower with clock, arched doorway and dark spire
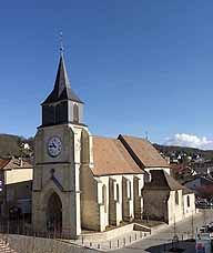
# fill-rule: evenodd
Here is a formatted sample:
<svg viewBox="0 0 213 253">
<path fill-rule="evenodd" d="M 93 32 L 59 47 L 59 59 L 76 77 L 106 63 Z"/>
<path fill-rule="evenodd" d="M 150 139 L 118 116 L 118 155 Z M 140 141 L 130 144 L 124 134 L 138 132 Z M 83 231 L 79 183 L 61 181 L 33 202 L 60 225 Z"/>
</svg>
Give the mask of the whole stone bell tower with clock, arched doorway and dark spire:
<svg viewBox="0 0 213 253">
<path fill-rule="evenodd" d="M 42 124 L 36 134 L 32 223 L 36 232 L 81 233 L 80 168 L 83 102 L 71 90 L 63 52 L 52 92 L 42 105 Z"/>
</svg>

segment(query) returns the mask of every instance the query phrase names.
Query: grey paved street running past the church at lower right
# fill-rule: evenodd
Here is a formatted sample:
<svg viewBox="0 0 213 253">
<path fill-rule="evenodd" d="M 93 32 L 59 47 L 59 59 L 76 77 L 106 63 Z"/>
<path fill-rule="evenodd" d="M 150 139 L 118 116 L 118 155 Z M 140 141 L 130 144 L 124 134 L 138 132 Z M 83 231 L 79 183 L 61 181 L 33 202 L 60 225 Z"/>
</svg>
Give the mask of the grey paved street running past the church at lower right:
<svg viewBox="0 0 213 253">
<path fill-rule="evenodd" d="M 170 252 L 170 249 L 172 249 L 172 239 L 174 236 L 175 231 L 180 240 L 179 247 L 184 250 L 182 252 L 194 253 L 195 243 L 186 242 L 186 239 L 191 237 L 192 231 L 194 231 L 195 234 L 196 227 L 201 227 L 203 224 L 212 221 L 213 211 L 202 211 L 200 214 L 196 214 L 193 219 L 189 217 L 183 222 L 176 223 L 175 226 L 170 226 L 169 229 L 160 231 L 158 234 L 151 235 L 148 239 L 133 243 L 132 245 L 125 249 L 120 249 L 113 252 Z"/>
</svg>

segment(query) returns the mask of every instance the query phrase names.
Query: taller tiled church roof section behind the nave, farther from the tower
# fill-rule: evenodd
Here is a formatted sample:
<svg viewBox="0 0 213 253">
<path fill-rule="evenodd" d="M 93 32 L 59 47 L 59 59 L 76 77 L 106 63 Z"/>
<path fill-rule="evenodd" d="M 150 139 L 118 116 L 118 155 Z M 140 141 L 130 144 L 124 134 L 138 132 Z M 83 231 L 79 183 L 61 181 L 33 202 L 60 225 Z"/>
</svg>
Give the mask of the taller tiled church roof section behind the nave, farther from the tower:
<svg viewBox="0 0 213 253">
<path fill-rule="evenodd" d="M 169 168 L 169 163 L 146 140 L 135 136 L 119 135 L 119 140 L 128 149 L 140 168 Z"/>
</svg>

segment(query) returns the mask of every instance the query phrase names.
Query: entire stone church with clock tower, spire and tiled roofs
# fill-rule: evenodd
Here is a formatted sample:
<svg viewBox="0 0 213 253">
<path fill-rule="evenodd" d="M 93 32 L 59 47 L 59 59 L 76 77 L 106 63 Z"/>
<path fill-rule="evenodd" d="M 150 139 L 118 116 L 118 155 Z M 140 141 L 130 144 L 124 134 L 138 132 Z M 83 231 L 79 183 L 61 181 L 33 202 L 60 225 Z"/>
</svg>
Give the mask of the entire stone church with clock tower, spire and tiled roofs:
<svg viewBox="0 0 213 253">
<path fill-rule="evenodd" d="M 63 52 L 54 88 L 41 107 L 32 189 L 36 232 L 57 230 L 75 239 L 83 230 L 102 232 L 144 215 L 171 223 L 195 212 L 194 194 L 170 176 L 170 165 L 148 140 L 90 133 Z"/>
</svg>

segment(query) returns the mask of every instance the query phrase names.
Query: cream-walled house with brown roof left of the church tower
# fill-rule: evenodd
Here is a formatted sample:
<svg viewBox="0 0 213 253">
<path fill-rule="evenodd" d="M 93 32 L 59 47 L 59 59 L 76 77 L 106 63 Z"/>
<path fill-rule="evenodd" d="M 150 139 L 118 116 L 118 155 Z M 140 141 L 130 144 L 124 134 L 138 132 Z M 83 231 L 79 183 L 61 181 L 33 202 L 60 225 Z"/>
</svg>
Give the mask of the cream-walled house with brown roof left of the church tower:
<svg viewBox="0 0 213 253">
<path fill-rule="evenodd" d="M 1 215 L 8 217 L 14 210 L 20 214 L 31 213 L 32 171 L 29 161 L 0 159 Z"/>
</svg>

